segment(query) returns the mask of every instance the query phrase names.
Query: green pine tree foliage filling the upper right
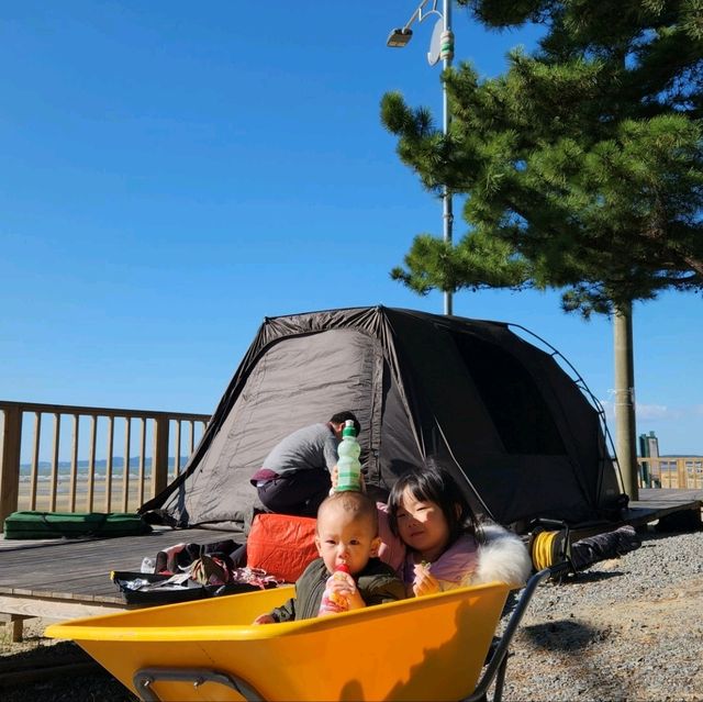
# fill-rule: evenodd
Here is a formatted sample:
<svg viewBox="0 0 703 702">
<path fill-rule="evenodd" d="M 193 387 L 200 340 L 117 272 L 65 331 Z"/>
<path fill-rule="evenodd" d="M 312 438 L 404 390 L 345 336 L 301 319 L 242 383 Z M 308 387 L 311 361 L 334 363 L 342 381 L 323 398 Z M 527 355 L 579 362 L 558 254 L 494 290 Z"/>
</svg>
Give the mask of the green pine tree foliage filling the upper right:
<svg viewBox="0 0 703 702">
<path fill-rule="evenodd" d="M 400 158 L 427 189 L 465 193 L 469 225 L 455 247 L 416 237 L 391 275 L 417 292 L 556 288 L 565 310 L 616 320 L 702 292 L 703 0 L 457 1 L 489 27 L 545 33 L 501 76 L 443 75 L 447 136 L 384 96 Z"/>
</svg>

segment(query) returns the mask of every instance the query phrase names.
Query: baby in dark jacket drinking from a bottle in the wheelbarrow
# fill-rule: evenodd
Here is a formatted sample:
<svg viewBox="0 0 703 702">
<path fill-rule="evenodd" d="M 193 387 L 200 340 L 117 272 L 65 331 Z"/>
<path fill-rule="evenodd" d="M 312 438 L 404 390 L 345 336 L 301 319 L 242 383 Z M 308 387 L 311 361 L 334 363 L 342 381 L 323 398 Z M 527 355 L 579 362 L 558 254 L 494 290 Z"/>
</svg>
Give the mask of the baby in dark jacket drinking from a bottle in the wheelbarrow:
<svg viewBox="0 0 703 702">
<path fill-rule="evenodd" d="M 327 579 L 344 564 L 349 575 L 337 572 L 334 592 L 345 598 L 349 610 L 358 610 L 405 598 L 405 589 L 393 569 L 377 557 L 376 503 L 361 492 L 335 492 L 320 505 L 313 560 L 295 582 L 295 597 L 254 624 L 291 622 L 317 616 Z M 343 576 L 343 577 L 339 577 Z"/>
</svg>

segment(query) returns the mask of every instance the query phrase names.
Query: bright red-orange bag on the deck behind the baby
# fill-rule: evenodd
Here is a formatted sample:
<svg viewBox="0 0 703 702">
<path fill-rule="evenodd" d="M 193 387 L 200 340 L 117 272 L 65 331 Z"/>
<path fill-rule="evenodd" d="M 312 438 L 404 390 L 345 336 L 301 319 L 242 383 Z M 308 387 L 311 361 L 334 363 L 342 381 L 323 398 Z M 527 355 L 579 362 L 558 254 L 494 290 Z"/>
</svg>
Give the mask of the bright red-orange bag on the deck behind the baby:
<svg viewBox="0 0 703 702">
<path fill-rule="evenodd" d="M 317 558 L 315 521 L 311 516 L 257 514 L 246 539 L 246 565 L 295 582 Z"/>
</svg>

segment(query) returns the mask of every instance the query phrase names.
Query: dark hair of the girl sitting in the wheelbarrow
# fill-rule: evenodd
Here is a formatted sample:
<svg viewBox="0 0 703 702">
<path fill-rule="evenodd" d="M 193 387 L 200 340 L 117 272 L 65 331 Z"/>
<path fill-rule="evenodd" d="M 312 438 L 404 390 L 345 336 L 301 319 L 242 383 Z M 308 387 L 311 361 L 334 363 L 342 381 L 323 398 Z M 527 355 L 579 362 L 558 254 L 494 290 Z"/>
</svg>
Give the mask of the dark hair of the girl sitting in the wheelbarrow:
<svg viewBox="0 0 703 702">
<path fill-rule="evenodd" d="M 398 536 L 398 511 L 405 490 L 422 502 L 434 502 L 439 506 L 449 527 L 449 544 L 461 536 L 472 534 L 480 538 L 480 528 L 473 510 L 455 479 L 449 472 L 427 458 L 422 468 L 413 468 L 403 473 L 397 481 L 388 498 L 389 523 L 391 531 Z"/>
</svg>

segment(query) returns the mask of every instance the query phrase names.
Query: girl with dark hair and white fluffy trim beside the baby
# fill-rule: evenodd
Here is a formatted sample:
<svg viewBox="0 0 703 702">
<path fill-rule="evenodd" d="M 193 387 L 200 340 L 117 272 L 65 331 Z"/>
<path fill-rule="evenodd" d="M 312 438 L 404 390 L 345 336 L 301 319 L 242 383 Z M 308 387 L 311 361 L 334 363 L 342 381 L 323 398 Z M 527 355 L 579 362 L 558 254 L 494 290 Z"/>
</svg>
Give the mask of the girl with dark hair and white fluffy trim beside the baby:
<svg viewBox="0 0 703 702">
<path fill-rule="evenodd" d="M 401 476 L 388 506 L 391 531 L 406 546 L 399 575 L 409 597 L 494 580 L 520 587 L 532 570 L 522 539 L 479 525 L 455 480 L 434 465 Z"/>
</svg>

